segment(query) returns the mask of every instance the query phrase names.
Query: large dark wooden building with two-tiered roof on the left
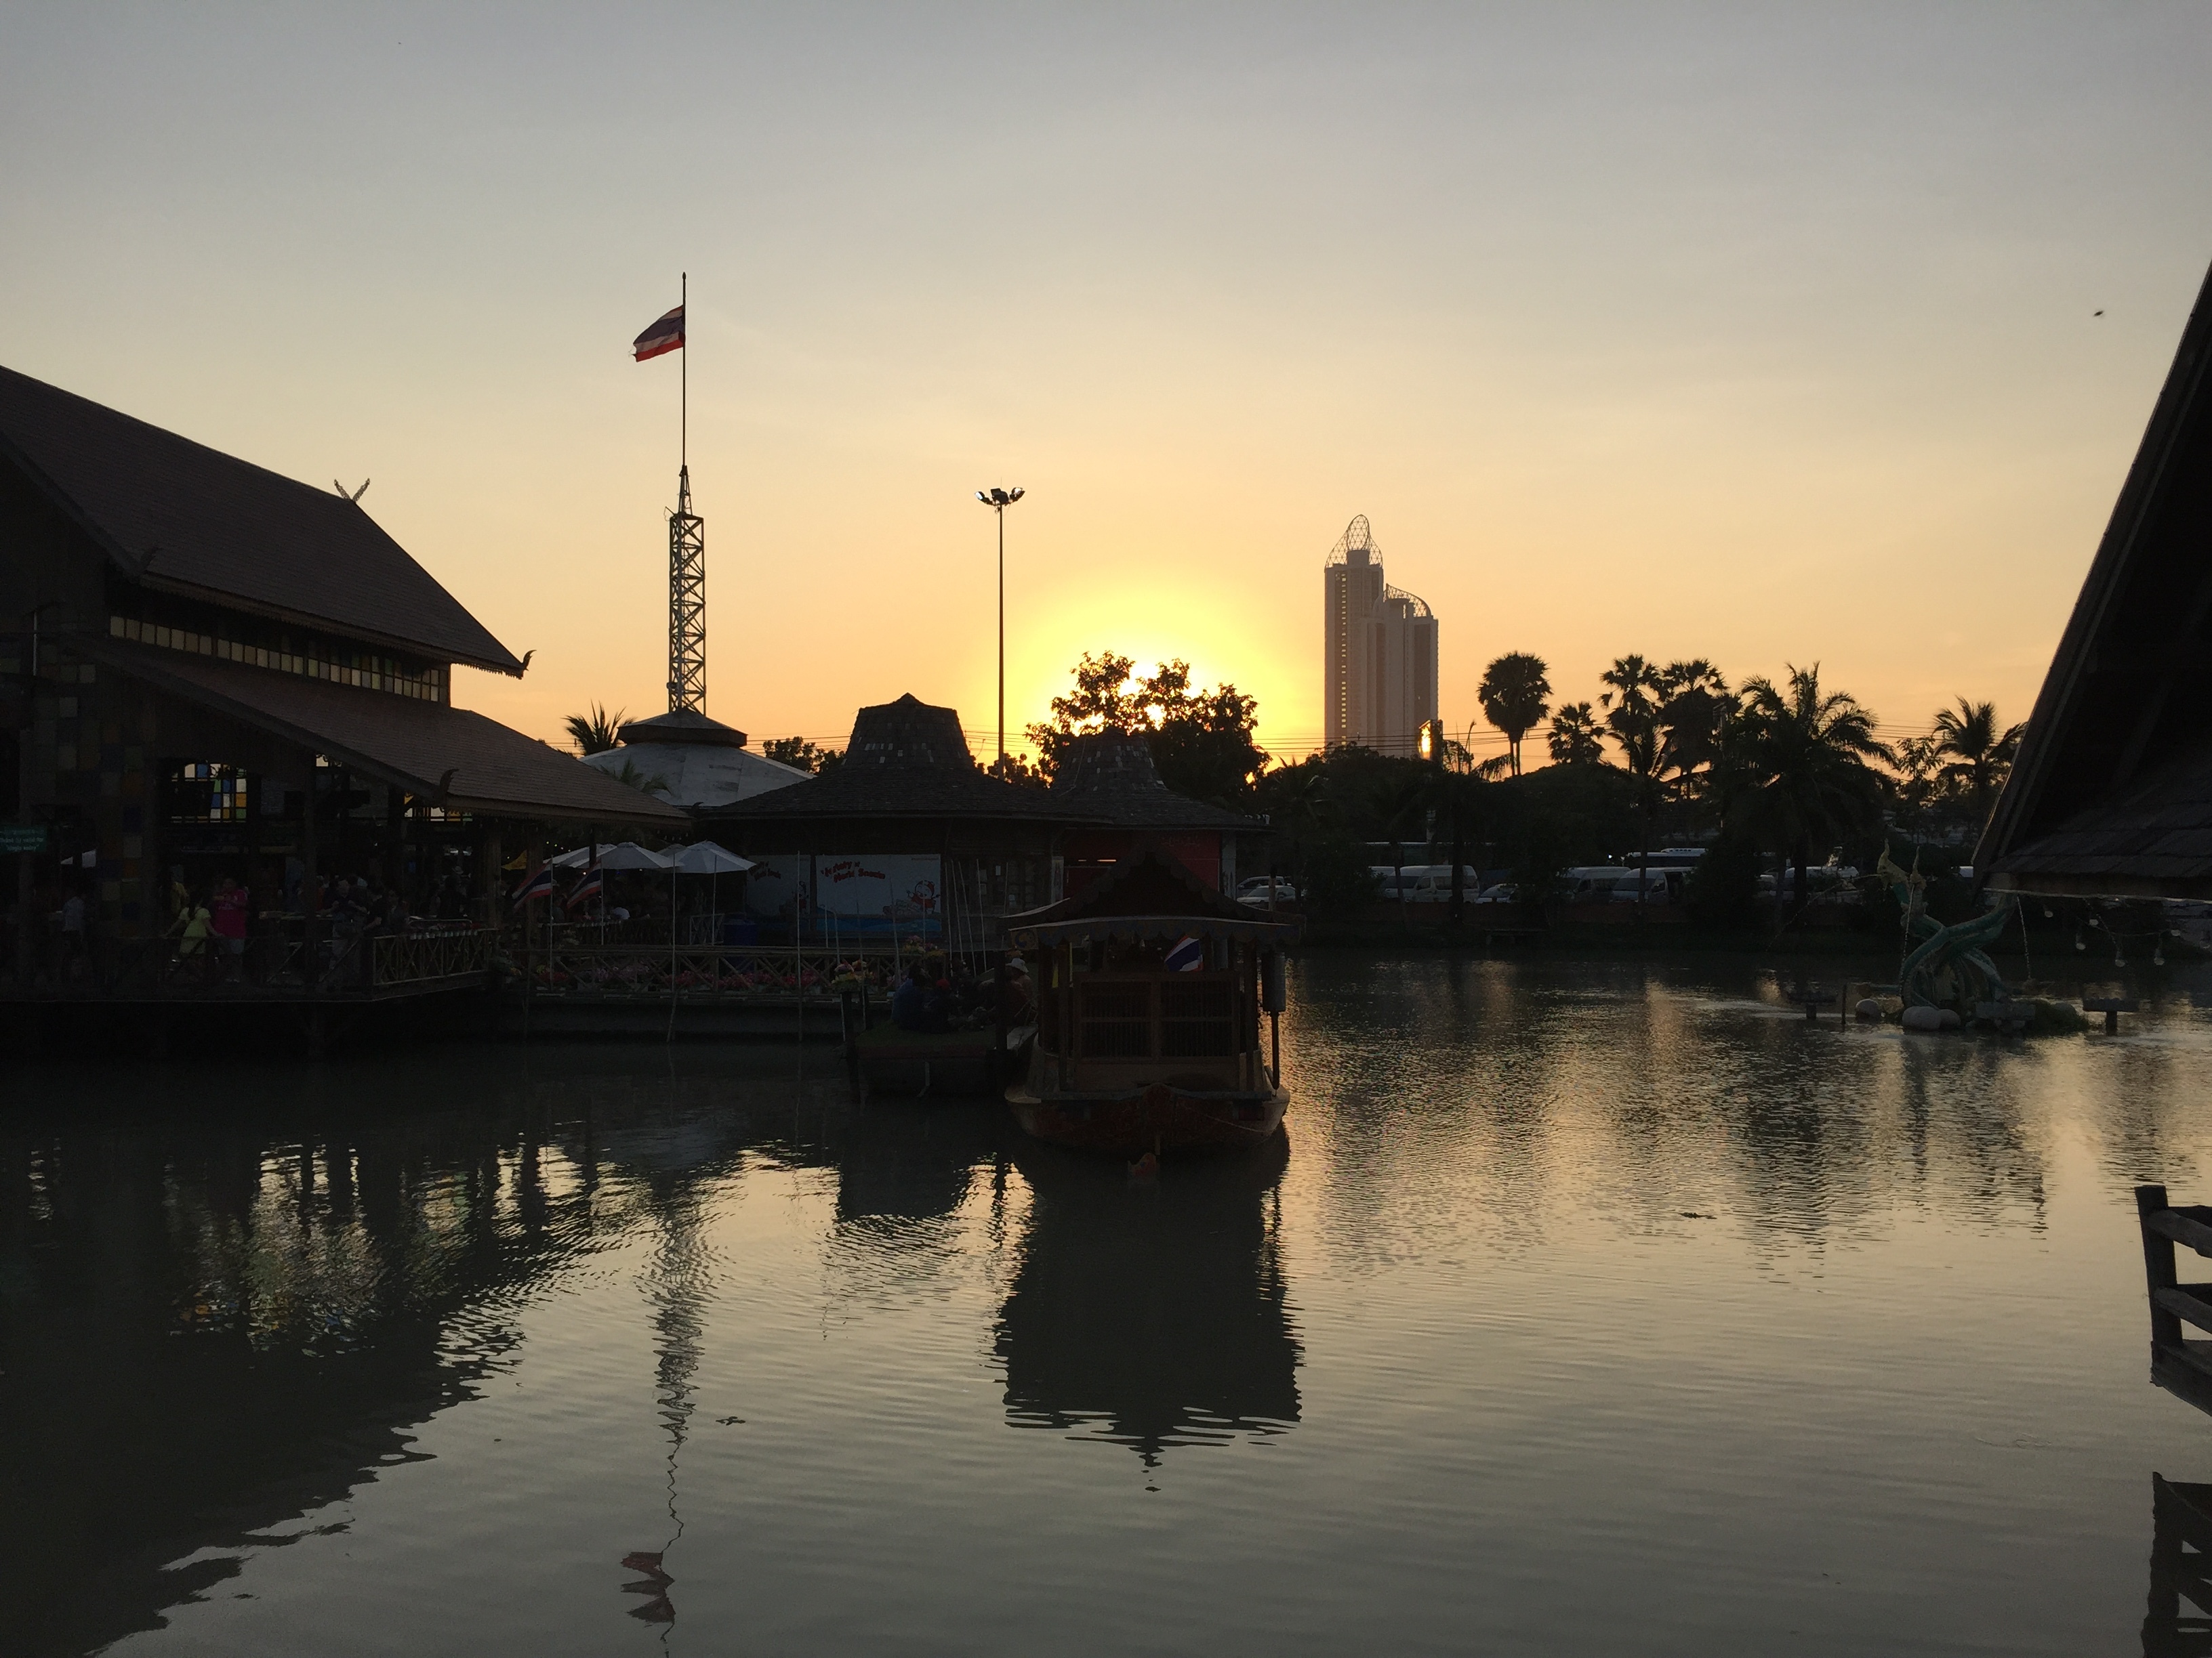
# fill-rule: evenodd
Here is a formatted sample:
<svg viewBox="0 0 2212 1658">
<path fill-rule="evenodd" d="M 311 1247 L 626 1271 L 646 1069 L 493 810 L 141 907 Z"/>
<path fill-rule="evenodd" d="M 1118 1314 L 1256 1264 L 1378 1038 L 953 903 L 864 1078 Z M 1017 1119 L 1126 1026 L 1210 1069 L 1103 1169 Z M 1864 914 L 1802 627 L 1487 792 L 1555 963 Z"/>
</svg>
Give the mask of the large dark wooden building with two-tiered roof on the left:
<svg viewBox="0 0 2212 1658">
<path fill-rule="evenodd" d="M 456 707 L 456 663 L 524 668 L 356 500 L 0 369 L 18 982 L 71 895 L 95 953 L 164 935 L 175 884 L 219 878 L 268 917 L 312 911 L 312 875 L 420 909 L 451 873 L 484 915 L 500 847 L 544 825 L 686 827 Z"/>
</svg>

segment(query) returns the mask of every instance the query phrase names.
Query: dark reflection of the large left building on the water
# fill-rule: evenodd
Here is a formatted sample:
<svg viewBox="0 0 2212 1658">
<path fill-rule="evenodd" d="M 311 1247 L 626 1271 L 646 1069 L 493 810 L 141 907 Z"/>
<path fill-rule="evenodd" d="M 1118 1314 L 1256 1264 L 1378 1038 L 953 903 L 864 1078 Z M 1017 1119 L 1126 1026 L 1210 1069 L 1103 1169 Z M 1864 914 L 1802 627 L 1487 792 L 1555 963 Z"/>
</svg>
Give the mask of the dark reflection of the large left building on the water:
<svg viewBox="0 0 2212 1658">
<path fill-rule="evenodd" d="M 159 1627 L 509 1362 L 588 1198 L 526 1123 L 394 1127 L 0 1134 L 0 1559 L 46 1583 L 7 1594 L 15 1649 Z"/>
</svg>

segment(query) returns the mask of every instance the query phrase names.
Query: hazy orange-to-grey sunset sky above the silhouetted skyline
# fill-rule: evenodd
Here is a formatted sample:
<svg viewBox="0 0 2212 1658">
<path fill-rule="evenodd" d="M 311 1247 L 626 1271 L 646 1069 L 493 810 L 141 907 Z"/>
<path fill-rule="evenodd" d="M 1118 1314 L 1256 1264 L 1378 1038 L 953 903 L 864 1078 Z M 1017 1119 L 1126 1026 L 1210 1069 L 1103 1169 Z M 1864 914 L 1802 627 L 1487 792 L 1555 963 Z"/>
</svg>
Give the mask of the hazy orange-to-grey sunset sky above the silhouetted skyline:
<svg viewBox="0 0 2212 1658">
<path fill-rule="evenodd" d="M 1365 513 L 1442 696 L 1535 650 L 2024 718 L 2212 259 L 2212 13 L 9 7 L 0 363 L 347 486 L 526 732 L 1009 721 L 1086 648 L 1321 736 Z M 2097 316 L 2097 312 L 2104 312 Z"/>
</svg>

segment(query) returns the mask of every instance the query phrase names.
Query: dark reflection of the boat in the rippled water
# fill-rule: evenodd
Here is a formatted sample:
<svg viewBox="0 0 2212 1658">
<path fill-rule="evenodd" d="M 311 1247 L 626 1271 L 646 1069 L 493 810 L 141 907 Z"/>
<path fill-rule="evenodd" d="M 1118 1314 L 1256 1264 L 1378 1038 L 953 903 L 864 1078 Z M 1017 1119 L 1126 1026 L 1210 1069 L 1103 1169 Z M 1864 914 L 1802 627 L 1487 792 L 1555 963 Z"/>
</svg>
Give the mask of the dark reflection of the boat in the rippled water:
<svg viewBox="0 0 2212 1658">
<path fill-rule="evenodd" d="M 1033 1205 L 998 1320 L 1006 1421 L 1135 1448 L 1283 1433 L 1298 1419 L 1298 1340 L 1279 1247 L 1287 1143 L 1170 1165 L 1035 1147 Z"/>
</svg>

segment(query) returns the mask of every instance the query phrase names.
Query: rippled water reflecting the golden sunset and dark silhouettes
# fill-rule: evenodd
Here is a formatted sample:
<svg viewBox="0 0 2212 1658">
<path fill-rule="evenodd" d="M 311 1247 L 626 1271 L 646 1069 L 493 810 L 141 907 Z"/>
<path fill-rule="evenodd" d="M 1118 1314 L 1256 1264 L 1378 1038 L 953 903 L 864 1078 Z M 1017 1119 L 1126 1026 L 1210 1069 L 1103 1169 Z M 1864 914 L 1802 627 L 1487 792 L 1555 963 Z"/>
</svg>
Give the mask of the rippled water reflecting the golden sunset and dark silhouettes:
<svg viewBox="0 0 2212 1658">
<path fill-rule="evenodd" d="M 2192 993 L 1314 957 L 1157 1183 L 821 1048 L 13 1072 L 0 1649 L 2135 1651 Z"/>
</svg>

